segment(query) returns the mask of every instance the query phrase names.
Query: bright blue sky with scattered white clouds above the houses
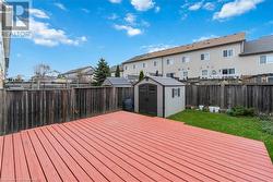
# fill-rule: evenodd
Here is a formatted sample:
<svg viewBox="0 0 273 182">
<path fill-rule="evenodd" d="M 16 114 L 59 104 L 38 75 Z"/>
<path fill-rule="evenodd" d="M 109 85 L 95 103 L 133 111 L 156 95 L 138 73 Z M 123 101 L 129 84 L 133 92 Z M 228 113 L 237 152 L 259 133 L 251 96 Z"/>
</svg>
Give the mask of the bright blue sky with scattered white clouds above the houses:
<svg viewBox="0 0 273 182">
<path fill-rule="evenodd" d="M 273 0 L 33 0 L 28 38 L 12 38 L 9 76 L 109 65 L 134 56 L 246 32 L 273 34 Z"/>
</svg>

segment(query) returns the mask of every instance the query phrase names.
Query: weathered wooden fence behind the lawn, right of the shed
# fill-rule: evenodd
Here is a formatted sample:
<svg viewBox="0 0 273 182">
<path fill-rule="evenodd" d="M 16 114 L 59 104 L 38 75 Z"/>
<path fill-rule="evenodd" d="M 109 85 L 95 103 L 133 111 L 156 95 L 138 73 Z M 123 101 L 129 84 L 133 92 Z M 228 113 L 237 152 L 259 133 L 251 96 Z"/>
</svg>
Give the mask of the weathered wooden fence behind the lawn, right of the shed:
<svg viewBox="0 0 273 182">
<path fill-rule="evenodd" d="M 254 108 L 264 113 L 273 112 L 273 85 L 187 85 L 186 105 L 235 106 Z"/>
</svg>

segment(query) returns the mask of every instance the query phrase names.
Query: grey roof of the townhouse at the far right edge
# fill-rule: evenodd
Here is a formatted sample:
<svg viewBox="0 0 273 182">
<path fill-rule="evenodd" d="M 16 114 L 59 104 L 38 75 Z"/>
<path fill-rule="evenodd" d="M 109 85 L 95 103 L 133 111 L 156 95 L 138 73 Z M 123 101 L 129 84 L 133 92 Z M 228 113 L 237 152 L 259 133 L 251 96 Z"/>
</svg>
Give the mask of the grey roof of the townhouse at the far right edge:
<svg viewBox="0 0 273 182">
<path fill-rule="evenodd" d="M 240 56 L 273 52 L 273 35 L 257 40 L 246 41 L 245 50 Z"/>
</svg>

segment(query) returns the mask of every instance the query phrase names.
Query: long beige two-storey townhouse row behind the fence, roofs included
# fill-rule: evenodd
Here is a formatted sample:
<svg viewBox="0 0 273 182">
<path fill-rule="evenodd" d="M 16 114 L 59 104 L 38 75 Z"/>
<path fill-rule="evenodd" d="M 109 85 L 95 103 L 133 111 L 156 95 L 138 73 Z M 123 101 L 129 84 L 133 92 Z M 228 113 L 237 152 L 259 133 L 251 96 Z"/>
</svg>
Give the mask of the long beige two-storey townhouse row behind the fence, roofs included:
<svg viewBox="0 0 273 182">
<path fill-rule="evenodd" d="M 123 62 L 123 76 L 240 78 L 273 71 L 273 36 L 247 41 L 245 33 L 146 53 Z"/>
</svg>

